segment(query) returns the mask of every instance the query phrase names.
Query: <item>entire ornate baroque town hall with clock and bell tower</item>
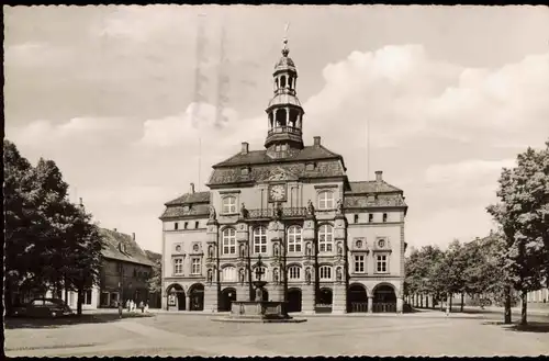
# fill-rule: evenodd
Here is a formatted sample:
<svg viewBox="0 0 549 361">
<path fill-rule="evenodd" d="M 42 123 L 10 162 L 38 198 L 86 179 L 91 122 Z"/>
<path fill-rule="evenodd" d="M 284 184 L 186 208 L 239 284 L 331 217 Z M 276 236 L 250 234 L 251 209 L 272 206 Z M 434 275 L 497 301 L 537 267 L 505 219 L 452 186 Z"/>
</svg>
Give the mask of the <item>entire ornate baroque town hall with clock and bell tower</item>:
<svg viewBox="0 0 549 361">
<path fill-rule="evenodd" d="M 163 308 L 228 311 L 250 300 L 261 259 L 266 300 L 289 312 L 402 312 L 403 191 L 383 180 L 349 181 L 344 158 L 303 142 L 298 71 L 273 72 L 265 149 L 242 144 L 213 166 L 210 191 L 167 202 L 163 221 Z"/>
</svg>

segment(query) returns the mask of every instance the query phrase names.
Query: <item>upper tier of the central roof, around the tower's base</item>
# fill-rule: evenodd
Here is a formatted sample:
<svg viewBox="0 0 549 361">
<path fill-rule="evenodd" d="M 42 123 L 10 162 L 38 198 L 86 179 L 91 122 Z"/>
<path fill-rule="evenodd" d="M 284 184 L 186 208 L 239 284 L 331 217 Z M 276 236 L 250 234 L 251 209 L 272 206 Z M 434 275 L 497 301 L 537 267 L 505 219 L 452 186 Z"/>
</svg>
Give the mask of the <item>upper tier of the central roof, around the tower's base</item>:
<svg viewBox="0 0 549 361">
<path fill-rule="evenodd" d="M 267 155 L 267 150 L 251 150 L 247 154 L 237 154 L 233 157 L 216 163 L 213 166 L 214 168 L 219 167 L 231 167 L 238 165 L 259 165 L 259 163 L 282 163 L 287 161 L 306 161 L 306 160 L 316 160 L 316 159 L 329 159 L 329 158 L 340 158 L 343 157 L 332 150 L 326 149 L 321 146 L 307 146 L 292 154 L 287 158 L 271 158 Z"/>
</svg>

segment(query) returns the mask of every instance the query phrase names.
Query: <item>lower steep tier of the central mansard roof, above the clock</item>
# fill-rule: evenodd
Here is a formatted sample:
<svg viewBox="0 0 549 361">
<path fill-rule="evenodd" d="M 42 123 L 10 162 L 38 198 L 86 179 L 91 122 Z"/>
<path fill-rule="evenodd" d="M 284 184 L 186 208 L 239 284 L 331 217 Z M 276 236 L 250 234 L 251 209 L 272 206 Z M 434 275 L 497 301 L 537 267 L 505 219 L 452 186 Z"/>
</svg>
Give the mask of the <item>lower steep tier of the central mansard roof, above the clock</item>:
<svg viewBox="0 0 549 361">
<path fill-rule="evenodd" d="M 210 185 L 226 183 L 261 182 L 268 180 L 273 169 L 281 169 L 298 178 L 327 178 L 344 177 L 345 168 L 339 159 L 316 161 L 314 170 L 306 170 L 306 162 L 277 162 L 270 165 L 254 166 L 247 174 L 242 173 L 242 169 L 214 168 L 210 177 Z"/>
</svg>

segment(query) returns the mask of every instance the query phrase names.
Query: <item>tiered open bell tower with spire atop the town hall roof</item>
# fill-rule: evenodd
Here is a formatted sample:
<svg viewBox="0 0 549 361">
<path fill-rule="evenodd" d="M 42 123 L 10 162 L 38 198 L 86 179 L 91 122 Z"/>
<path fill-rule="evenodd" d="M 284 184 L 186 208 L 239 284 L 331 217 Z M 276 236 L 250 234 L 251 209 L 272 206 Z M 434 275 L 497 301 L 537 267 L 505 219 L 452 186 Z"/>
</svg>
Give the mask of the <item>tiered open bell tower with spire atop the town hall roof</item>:
<svg viewBox="0 0 549 361">
<path fill-rule="evenodd" d="M 303 149 L 303 108 L 295 95 L 298 71 L 288 57 L 288 40 L 284 38 L 282 57 L 274 65 L 272 74 L 274 97 L 265 110 L 268 114 L 269 131 L 265 147 L 273 157 L 287 157 Z"/>
</svg>

